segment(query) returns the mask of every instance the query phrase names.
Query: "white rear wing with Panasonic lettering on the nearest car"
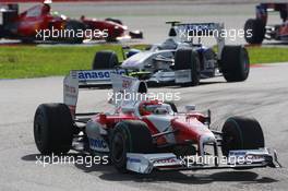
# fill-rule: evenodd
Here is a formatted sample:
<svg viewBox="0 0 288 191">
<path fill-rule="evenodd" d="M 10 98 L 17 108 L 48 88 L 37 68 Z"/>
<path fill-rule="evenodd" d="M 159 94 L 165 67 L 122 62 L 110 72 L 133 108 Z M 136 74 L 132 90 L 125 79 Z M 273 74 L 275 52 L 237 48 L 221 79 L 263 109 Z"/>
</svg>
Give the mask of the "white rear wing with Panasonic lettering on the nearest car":
<svg viewBox="0 0 288 191">
<path fill-rule="evenodd" d="M 76 114 L 80 89 L 95 87 L 99 84 L 112 85 L 112 95 L 111 97 L 108 95 L 108 97 L 112 98 L 110 104 L 116 107 L 118 107 L 119 103 L 121 104 L 121 98 L 125 98 L 122 94 L 147 92 L 145 82 L 127 76 L 123 69 L 70 71 L 69 75 L 63 80 L 63 103 L 69 107 L 73 119 L 77 115 L 85 116 L 85 114 Z"/>
</svg>

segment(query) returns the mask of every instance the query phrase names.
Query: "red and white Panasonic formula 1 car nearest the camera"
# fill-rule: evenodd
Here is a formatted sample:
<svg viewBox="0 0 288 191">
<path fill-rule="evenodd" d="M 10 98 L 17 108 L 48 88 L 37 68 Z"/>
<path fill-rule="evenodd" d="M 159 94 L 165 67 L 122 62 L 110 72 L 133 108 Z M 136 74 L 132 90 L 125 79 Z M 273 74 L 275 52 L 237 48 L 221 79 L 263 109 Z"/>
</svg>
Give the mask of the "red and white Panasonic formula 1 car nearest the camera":
<svg viewBox="0 0 288 191">
<path fill-rule="evenodd" d="M 109 156 L 119 171 L 140 174 L 280 167 L 276 152 L 265 148 L 255 119 L 230 117 L 221 131 L 215 131 L 209 112 L 200 114 L 193 106 L 180 112 L 172 103 L 145 97 L 145 82 L 134 77 L 111 74 L 113 112 L 76 114 L 79 89 L 94 83 L 80 80 L 80 72 L 64 79 L 64 104 L 41 104 L 36 110 L 34 136 L 41 154 L 64 154 L 81 142 L 85 152 Z M 116 103 L 124 92 L 141 98 L 122 97 Z M 205 159 L 208 156 L 214 157 L 213 164 Z"/>
</svg>

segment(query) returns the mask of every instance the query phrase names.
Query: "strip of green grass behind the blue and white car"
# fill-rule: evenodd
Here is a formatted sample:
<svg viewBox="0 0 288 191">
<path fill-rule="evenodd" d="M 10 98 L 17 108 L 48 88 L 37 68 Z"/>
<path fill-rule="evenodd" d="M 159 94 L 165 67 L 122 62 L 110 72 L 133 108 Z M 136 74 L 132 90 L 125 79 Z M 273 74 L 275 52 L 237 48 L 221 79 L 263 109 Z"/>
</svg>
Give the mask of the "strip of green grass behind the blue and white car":
<svg viewBox="0 0 288 191">
<path fill-rule="evenodd" d="M 136 46 L 135 48 L 144 48 Z M 40 77 L 64 75 L 70 70 L 92 68 L 96 51 L 110 49 L 122 58 L 120 45 L 91 47 L 0 47 L 0 79 Z M 288 61 L 288 48 L 249 47 L 251 63 Z"/>
</svg>

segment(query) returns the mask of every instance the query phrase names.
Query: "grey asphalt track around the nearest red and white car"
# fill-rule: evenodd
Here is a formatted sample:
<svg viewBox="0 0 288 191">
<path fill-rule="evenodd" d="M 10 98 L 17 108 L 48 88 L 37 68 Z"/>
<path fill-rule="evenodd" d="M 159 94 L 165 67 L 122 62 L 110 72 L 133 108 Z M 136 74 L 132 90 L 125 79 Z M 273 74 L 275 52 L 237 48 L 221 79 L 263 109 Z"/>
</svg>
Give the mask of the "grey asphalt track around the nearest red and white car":
<svg viewBox="0 0 288 191">
<path fill-rule="evenodd" d="M 202 81 L 197 87 L 151 88 L 151 92 L 180 93 L 179 108 L 195 104 L 212 110 L 213 127 L 229 116 L 260 120 L 266 146 L 276 148 L 288 166 L 288 63 L 252 68 L 248 81 L 226 83 L 223 77 Z M 252 169 L 155 172 L 142 177 L 121 175 L 112 166 L 36 164 L 33 117 L 37 105 L 62 102 L 62 77 L 0 81 L 0 190 L 286 190 L 288 170 Z M 107 111 L 109 89 L 83 91 L 81 111 Z M 72 152 L 73 153 L 73 152 Z"/>
</svg>

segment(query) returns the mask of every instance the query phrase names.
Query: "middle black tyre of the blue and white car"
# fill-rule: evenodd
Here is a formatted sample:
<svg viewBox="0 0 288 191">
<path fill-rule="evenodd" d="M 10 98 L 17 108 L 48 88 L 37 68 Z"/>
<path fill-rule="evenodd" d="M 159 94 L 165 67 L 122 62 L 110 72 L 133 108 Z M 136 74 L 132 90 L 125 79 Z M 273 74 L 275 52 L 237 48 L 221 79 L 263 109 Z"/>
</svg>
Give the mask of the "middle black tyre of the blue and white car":
<svg viewBox="0 0 288 191">
<path fill-rule="evenodd" d="M 183 86 L 195 86 L 200 82 L 200 60 L 197 52 L 190 48 L 178 49 L 175 53 L 175 70 L 191 70 L 191 82 Z"/>
</svg>

